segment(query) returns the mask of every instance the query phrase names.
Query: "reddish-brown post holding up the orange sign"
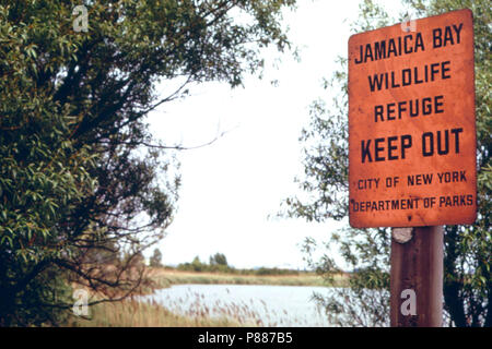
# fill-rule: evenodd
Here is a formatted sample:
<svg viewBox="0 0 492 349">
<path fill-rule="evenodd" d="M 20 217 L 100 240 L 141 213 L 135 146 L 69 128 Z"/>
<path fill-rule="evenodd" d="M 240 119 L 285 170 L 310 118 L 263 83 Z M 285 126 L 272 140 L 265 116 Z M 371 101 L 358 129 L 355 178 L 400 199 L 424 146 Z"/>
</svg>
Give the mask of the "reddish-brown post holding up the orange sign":
<svg viewBox="0 0 492 349">
<path fill-rule="evenodd" d="M 443 325 L 443 227 L 394 228 L 391 327 Z"/>
</svg>

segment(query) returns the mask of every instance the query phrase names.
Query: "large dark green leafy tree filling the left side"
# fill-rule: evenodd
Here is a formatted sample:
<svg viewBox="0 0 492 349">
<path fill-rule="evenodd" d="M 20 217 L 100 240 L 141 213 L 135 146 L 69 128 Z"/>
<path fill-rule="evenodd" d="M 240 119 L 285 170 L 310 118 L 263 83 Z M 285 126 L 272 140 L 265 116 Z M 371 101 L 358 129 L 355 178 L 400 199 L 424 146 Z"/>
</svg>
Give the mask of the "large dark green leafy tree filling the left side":
<svg viewBox="0 0 492 349">
<path fill-rule="evenodd" d="M 84 1 L 75 32 L 80 2 L 0 1 L 1 326 L 59 323 L 73 302 L 61 284 L 105 294 L 91 304 L 141 285 L 133 262 L 177 200 L 165 152 L 183 148 L 153 142 L 145 116 L 190 84 L 258 72 L 261 48 L 289 48 L 295 1 Z M 118 257 L 102 265 L 97 249 Z"/>
</svg>

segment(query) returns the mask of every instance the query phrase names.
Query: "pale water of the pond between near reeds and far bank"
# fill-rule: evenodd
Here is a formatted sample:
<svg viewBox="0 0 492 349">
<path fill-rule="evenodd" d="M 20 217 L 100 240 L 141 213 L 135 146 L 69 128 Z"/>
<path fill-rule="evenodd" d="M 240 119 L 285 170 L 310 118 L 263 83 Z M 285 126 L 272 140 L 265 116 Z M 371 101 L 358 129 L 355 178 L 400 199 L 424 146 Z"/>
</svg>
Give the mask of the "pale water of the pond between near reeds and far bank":
<svg viewBox="0 0 492 349">
<path fill-rule="evenodd" d="M 143 297 L 187 316 L 229 315 L 262 326 L 329 326 L 313 292 L 326 288 L 270 285 L 176 285 Z"/>
</svg>

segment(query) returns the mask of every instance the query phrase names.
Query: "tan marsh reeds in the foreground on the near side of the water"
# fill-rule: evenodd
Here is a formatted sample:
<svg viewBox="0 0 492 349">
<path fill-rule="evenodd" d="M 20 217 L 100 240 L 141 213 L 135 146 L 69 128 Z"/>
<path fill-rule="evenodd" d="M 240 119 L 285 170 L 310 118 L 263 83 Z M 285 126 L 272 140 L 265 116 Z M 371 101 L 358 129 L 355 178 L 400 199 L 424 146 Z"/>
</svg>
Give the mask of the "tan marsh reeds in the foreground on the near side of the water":
<svg viewBox="0 0 492 349">
<path fill-rule="evenodd" d="M 165 305 L 163 305 L 165 304 Z M 189 292 L 181 298 L 156 302 L 142 297 L 120 302 L 99 303 L 90 308 L 87 318 L 72 316 L 73 327 L 276 327 L 303 326 L 305 320 L 291 318 L 268 309 L 260 300 L 206 302 L 206 296 Z M 305 324 L 304 324 L 305 325 Z"/>
</svg>

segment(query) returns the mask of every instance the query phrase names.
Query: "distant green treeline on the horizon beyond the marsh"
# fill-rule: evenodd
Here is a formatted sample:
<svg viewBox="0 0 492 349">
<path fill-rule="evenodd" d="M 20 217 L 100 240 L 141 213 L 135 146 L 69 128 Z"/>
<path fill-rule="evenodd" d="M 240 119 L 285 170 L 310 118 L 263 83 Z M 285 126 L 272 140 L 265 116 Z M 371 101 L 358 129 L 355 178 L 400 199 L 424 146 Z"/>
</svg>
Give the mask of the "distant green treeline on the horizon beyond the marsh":
<svg viewBox="0 0 492 349">
<path fill-rule="evenodd" d="M 238 269 L 227 264 L 227 260 L 221 253 L 216 253 L 210 256 L 210 262 L 201 262 L 198 256 L 196 256 L 191 263 L 180 263 L 176 267 L 177 270 L 183 272 L 197 272 L 197 273 L 227 273 L 237 275 L 298 275 L 302 272 L 285 268 L 267 268 L 259 267 L 255 269 Z"/>
</svg>

